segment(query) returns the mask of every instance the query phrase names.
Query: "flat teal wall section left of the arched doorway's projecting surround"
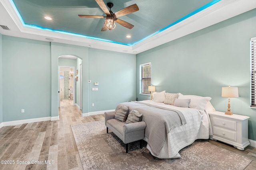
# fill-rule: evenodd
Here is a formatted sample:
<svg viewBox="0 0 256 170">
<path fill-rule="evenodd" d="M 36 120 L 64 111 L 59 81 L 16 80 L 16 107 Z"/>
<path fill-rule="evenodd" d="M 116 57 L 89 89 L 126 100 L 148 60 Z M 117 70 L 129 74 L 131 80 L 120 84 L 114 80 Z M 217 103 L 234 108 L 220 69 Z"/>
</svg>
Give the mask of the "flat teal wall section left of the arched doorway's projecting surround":
<svg viewBox="0 0 256 170">
<path fill-rule="evenodd" d="M 50 43 L 2 35 L 2 49 L 3 121 L 51 116 Z"/>
</svg>

